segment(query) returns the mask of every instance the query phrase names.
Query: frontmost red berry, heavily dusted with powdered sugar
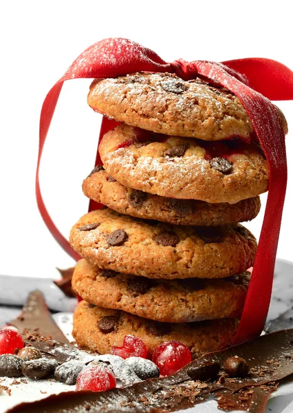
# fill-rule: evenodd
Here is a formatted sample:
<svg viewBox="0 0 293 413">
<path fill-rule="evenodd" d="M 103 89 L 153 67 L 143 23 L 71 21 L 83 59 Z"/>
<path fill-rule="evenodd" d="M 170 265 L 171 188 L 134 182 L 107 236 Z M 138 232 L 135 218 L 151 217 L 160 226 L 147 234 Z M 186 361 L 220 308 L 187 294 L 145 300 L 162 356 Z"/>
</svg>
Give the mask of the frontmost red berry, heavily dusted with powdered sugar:
<svg viewBox="0 0 293 413">
<path fill-rule="evenodd" d="M 107 368 L 98 366 L 84 368 L 76 379 L 76 390 L 105 392 L 113 388 L 116 388 L 116 379 L 113 372 Z"/>
</svg>

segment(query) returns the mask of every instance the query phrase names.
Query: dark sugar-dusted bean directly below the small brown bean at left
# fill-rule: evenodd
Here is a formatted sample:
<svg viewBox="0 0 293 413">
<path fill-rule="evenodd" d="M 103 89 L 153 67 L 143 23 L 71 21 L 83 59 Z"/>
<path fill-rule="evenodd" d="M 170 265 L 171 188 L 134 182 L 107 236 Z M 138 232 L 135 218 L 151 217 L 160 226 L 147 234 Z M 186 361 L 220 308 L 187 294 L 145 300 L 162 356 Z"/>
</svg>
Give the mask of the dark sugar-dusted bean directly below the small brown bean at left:
<svg viewBox="0 0 293 413">
<path fill-rule="evenodd" d="M 23 361 L 21 371 L 25 377 L 33 380 L 41 380 L 54 374 L 58 361 L 55 359 L 37 359 Z"/>
</svg>

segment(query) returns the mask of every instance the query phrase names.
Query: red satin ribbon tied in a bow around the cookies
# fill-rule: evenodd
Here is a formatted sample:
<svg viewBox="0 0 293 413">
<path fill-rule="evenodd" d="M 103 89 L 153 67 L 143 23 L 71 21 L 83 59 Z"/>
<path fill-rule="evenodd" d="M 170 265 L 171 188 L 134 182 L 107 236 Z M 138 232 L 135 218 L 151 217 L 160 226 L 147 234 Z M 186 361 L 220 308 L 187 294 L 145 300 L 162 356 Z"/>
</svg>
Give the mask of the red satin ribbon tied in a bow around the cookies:
<svg viewBox="0 0 293 413">
<path fill-rule="evenodd" d="M 127 39 L 105 39 L 87 48 L 65 75 L 47 94 L 40 119 L 39 159 L 36 170 L 36 199 L 39 211 L 56 241 L 78 260 L 69 242 L 58 231 L 50 218 L 39 185 L 39 165 L 43 145 L 64 81 L 73 78 L 109 78 L 149 71 L 175 73 L 184 80 L 201 76 L 219 83 L 239 97 L 257 133 L 270 169 L 270 185 L 259 246 L 243 314 L 234 344 L 257 337 L 268 314 L 276 247 L 279 239 L 283 202 L 287 182 L 285 136 L 279 114 L 270 100 L 293 99 L 293 72 L 270 59 L 239 59 L 215 63 L 210 61 L 186 62 L 182 59 L 166 63 L 158 54 Z M 263 96 L 264 95 L 264 96 Z M 266 96 L 266 97 L 265 97 Z M 102 119 L 100 138 L 115 126 Z M 96 165 L 100 158 L 97 151 Z M 90 202 L 89 209 L 100 207 Z"/>
</svg>

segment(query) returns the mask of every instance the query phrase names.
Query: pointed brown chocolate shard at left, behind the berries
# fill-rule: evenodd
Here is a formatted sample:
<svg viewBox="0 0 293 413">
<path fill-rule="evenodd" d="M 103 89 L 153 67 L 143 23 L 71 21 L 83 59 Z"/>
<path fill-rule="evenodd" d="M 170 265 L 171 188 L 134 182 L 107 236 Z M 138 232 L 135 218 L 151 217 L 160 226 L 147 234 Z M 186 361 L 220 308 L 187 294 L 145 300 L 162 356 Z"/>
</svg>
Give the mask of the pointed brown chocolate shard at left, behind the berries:
<svg viewBox="0 0 293 413">
<path fill-rule="evenodd" d="M 22 333 L 38 331 L 40 335 L 50 336 L 53 339 L 63 341 L 63 343 L 69 343 L 52 318 L 43 293 L 39 290 L 30 293 L 19 317 L 10 321 L 9 324 L 18 328 Z"/>
</svg>

